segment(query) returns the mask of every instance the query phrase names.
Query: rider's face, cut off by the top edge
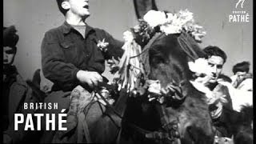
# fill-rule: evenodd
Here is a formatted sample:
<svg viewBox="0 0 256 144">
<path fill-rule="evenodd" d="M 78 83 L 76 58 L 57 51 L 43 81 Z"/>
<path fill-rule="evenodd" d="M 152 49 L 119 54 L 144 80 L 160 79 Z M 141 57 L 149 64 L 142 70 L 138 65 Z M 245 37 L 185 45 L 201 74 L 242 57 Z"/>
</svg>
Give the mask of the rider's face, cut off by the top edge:
<svg viewBox="0 0 256 144">
<path fill-rule="evenodd" d="M 89 0 L 69 0 L 70 11 L 81 17 L 89 16 Z"/>
</svg>

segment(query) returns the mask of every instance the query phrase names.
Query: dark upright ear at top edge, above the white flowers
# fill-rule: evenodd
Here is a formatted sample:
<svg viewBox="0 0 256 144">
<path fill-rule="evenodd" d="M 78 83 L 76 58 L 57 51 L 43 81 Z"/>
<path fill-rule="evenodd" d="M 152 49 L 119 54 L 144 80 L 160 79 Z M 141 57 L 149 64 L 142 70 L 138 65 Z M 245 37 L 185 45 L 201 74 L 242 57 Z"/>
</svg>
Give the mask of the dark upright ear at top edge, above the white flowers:
<svg viewBox="0 0 256 144">
<path fill-rule="evenodd" d="M 142 19 L 149 10 L 158 10 L 154 0 L 134 0 L 134 8 L 138 19 Z"/>
</svg>

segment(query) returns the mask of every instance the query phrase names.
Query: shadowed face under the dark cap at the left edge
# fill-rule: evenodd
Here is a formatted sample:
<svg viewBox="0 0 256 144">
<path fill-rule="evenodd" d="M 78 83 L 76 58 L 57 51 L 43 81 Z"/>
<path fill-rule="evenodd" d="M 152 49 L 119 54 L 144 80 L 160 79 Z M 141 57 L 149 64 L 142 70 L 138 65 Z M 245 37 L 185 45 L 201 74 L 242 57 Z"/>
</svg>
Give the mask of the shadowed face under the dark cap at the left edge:
<svg viewBox="0 0 256 144">
<path fill-rule="evenodd" d="M 10 46 L 3 47 L 3 64 L 11 65 L 14 62 L 15 50 Z"/>
</svg>

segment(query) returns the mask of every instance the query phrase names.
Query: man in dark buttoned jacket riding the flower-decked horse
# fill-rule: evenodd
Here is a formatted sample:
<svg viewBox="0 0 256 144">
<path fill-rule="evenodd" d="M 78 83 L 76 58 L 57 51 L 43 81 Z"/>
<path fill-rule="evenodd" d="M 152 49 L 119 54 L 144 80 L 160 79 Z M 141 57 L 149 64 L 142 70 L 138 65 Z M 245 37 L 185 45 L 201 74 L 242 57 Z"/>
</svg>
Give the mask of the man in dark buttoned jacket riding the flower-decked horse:
<svg viewBox="0 0 256 144">
<path fill-rule="evenodd" d="M 104 81 L 101 74 L 105 60 L 121 57 L 123 42 L 86 23 L 90 16 L 88 0 L 57 0 L 57 3 L 65 22 L 47 31 L 42 40 L 42 72 L 54 82 L 45 102 L 58 102 L 58 110 L 44 113 L 60 114 L 62 109 L 69 109 L 70 103 L 77 105 L 72 96 L 75 92 L 83 91 L 86 98 L 91 98 L 94 86 Z"/>
</svg>

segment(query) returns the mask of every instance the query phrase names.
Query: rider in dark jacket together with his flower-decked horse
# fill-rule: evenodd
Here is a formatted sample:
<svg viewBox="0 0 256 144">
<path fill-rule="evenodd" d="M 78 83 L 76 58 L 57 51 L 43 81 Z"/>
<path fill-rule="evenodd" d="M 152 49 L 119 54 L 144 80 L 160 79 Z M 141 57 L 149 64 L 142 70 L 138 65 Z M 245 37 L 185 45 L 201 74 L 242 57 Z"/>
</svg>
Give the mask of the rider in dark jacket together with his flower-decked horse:
<svg viewBox="0 0 256 144">
<path fill-rule="evenodd" d="M 102 82 L 102 76 L 100 74 L 104 70 L 104 58 L 111 58 L 112 55 L 121 56 L 122 50 L 118 49 L 118 47 L 122 46 L 122 42 L 114 40 L 114 38 L 104 30 L 94 29 L 86 25 L 85 20 L 90 15 L 87 1 L 58 1 L 58 6 L 62 13 L 65 14 L 66 22 L 64 22 L 62 26 L 46 32 L 42 42 L 42 71 L 46 78 L 54 82 L 52 89 L 54 92 L 46 97 L 45 102 L 62 103 L 61 106 L 58 106 L 59 110 L 56 110 L 56 113 L 60 113 L 62 109 L 69 109 L 67 118 L 68 130 L 55 135 L 54 140 L 56 140 L 56 142 L 90 142 L 90 134 L 88 134 L 90 128 L 88 127 L 92 125 L 86 125 L 86 112 L 84 109 L 86 109 L 87 104 L 93 100 L 91 96 L 92 87 L 97 87 L 98 83 Z M 150 11 L 144 16 L 145 22 L 144 24 L 142 22 L 142 29 L 138 31 L 134 29 L 135 34 L 142 33 L 142 37 L 138 37 L 139 40 L 137 39 L 137 41 L 135 40 L 138 44 L 136 44 L 133 39 L 128 38 L 126 39 L 125 45 L 122 46 L 122 48 L 125 49 L 125 54 L 122 55 L 121 62 L 119 63 L 121 69 L 118 71 L 118 74 L 121 74 L 121 76 L 118 78 L 118 90 L 126 89 L 128 92 L 133 92 L 135 87 L 139 88 L 139 85 L 145 84 L 145 82 L 141 81 L 142 77 L 137 77 L 138 75 L 143 75 L 143 73 L 141 73 L 143 71 L 141 62 L 138 61 L 139 57 L 131 58 L 131 56 L 132 54 L 140 54 L 142 51 L 137 48 L 146 46 L 147 42 L 156 34 L 155 32 L 162 30 L 162 34 L 156 35 L 154 43 L 161 42 L 159 45 L 164 44 L 163 46 L 165 47 L 159 49 L 159 51 L 161 53 L 166 52 L 167 55 L 163 55 L 164 57 L 159 59 L 157 55 L 154 55 L 158 54 L 157 51 L 157 53 L 154 52 L 154 50 L 158 50 L 158 45 L 149 46 L 148 66 L 150 66 L 150 73 L 148 78 L 153 81 L 150 81 L 150 79 L 146 77 L 144 78 L 146 83 L 150 83 L 147 90 L 152 90 L 150 87 L 153 85 L 160 86 L 159 89 L 149 92 L 151 93 L 150 97 L 152 96 L 152 98 L 160 102 L 160 104 L 163 103 L 163 105 L 157 105 L 157 110 L 162 118 L 161 122 L 164 130 L 162 132 L 149 133 L 147 137 L 155 138 L 155 134 L 167 134 L 164 136 L 164 141 L 167 139 L 173 141 L 174 135 L 170 134 L 170 132 L 173 133 L 173 130 L 170 129 L 174 129 L 174 126 L 181 125 L 182 128 L 178 128 L 176 132 L 181 134 L 183 141 L 186 141 L 186 138 L 188 138 L 191 142 L 203 143 L 202 138 L 206 138 L 208 139 L 206 142 L 212 142 L 213 130 L 210 127 L 207 105 L 202 100 L 203 95 L 198 94 L 198 98 L 188 95 L 190 92 L 196 93 L 196 91 L 194 91 L 193 87 L 189 86 L 190 83 L 188 80 L 190 78 L 190 71 L 186 59 L 190 57 L 189 59 L 193 60 L 198 58 L 201 53 L 198 47 L 194 48 L 194 46 L 190 46 L 196 44 L 194 40 L 188 40 L 191 38 L 189 33 L 192 34 L 193 38 L 197 41 L 201 40 L 204 33 L 201 31 L 200 26 L 194 24 L 193 17 L 190 17 L 191 13 L 187 10 L 181 10 L 177 15 L 166 12 L 156 12 L 156 14 L 160 15 L 154 15 L 153 18 L 160 16 L 164 21 L 161 23 L 156 23 L 158 21 L 154 22 L 155 19 L 150 19 L 150 14 L 154 14 L 154 11 Z M 178 23 L 175 24 L 174 20 L 177 18 L 176 16 L 183 21 L 177 20 Z M 192 29 L 191 25 L 186 25 L 188 23 L 192 25 Z M 174 29 L 171 28 L 173 24 L 177 25 Z M 186 32 L 183 32 L 183 30 L 186 30 Z M 179 34 L 181 34 L 181 37 L 178 37 Z M 127 37 L 129 37 L 129 35 Z M 174 45 L 177 42 L 179 42 L 177 46 Z M 191 44 L 190 42 L 194 43 Z M 170 49 L 170 47 L 165 44 L 170 44 L 170 46 L 175 47 Z M 175 54 L 179 55 L 179 57 L 177 58 Z M 182 73 L 178 74 L 177 70 L 182 71 Z M 146 76 L 146 73 L 144 76 Z M 72 90 L 71 93 L 70 90 Z M 69 102 L 70 106 L 68 105 Z M 180 104 L 177 105 L 177 103 Z M 176 109 L 174 109 L 174 105 L 176 105 Z M 202 110 L 201 115 L 197 113 L 198 110 L 191 112 L 189 110 L 191 105 L 195 105 L 194 109 Z M 197 105 L 201 105 L 201 107 Z M 184 111 L 184 109 L 189 111 Z M 180 114 L 184 115 L 182 116 Z M 192 116 L 191 114 L 196 114 L 196 116 Z M 89 114 L 88 116 L 91 115 Z M 192 123 L 188 123 L 186 117 L 191 117 L 194 120 Z M 175 118 L 182 119 L 178 120 Z M 208 129 L 203 130 L 201 126 L 199 126 L 198 120 L 200 118 L 205 118 L 201 119 L 200 122 Z M 110 117 L 110 119 L 112 119 L 112 117 Z M 77 131 L 75 130 L 76 127 Z M 77 138 L 72 139 L 69 134 L 74 134 L 74 130 L 78 135 Z M 190 132 L 188 130 L 190 130 Z M 191 133 L 194 132 L 202 134 L 202 138 L 193 134 L 192 136 Z M 85 135 L 86 140 L 82 138 L 82 134 Z"/>
</svg>

